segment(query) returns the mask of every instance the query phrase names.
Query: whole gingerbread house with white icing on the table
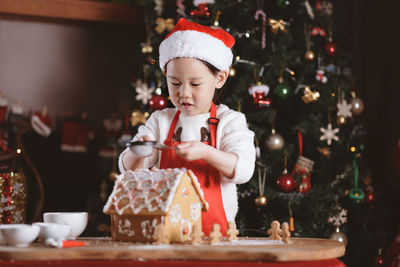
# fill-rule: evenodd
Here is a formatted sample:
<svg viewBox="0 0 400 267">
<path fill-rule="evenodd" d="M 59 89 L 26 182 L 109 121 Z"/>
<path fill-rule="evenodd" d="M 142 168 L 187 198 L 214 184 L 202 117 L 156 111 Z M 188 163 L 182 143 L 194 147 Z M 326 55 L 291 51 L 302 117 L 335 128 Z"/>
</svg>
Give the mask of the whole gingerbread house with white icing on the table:
<svg viewBox="0 0 400 267">
<path fill-rule="evenodd" d="M 192 171 L 139 169 L 118 176 L 103 212 L 111 215 L 112 240 L 153 242 L 162 224 L 170 242 L 184 242 L 207 210 Z"/>
</svg>

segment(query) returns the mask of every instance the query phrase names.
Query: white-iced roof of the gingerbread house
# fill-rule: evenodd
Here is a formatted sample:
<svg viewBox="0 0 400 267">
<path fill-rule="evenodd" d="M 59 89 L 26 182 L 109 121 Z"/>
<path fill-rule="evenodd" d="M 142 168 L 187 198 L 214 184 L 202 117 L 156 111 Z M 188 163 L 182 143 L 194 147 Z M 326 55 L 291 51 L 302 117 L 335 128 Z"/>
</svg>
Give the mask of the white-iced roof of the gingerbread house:
<svg viewBox="0 0 400 267">
<path fill-rule="evenodd" d="M 165 215 L 185 176 L 191 179 L 203 210 L 208 210 L 208 203 L 197 177 L 191 170 L 182 168 L 151 171 L 139 169 L 120 174 L 103 212 L 118 215 Z"/>
</svg>

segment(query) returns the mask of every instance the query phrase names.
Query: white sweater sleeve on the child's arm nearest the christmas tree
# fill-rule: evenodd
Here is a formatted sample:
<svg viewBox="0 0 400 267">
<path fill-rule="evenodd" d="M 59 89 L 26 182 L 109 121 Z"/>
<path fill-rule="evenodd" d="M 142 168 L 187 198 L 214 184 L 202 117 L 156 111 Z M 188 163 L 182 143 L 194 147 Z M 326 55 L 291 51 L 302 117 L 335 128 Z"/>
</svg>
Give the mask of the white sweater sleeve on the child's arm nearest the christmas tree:
<svg viewBox="0 0 400 267">
<path fill-rule="evenodd" d="M 254 172 L 256 152 L 254 133 L 249 130 L 243 113 L 229 110 L 221 117 L 218 128 L 221 129 L 219 148 L 222 151 L 236 154 L 237 162 L 232 179 L 223 177 L 225 182 L 243 184 L 250 180 Z"/>
</svg>

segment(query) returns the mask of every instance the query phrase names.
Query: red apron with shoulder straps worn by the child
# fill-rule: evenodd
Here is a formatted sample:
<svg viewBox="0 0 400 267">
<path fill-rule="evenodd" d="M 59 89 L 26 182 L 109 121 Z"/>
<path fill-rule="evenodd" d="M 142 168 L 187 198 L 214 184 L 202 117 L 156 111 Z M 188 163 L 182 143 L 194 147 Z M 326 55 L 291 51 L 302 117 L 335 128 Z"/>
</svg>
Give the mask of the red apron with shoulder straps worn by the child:
<svg viewBox="0 0 400 267">
<path fill-rule="evenodd" d="M 175 114 L 174 120 L 169 128 L 167 140 L 164 144 L 175 147 L 180 142 L 173 140 L 176 124 L 179 120 L 180 110 Z M 216 147 L 216 133 L 218 119 L 216 118 L 216 107 L 214 103 L 211 105 L 211 113 L 208 122 L 210 124 L 210 142 L 203 142 L 204 144 Z M 186 168 L 194 172 L 199 180 L 201 189 L 204 192 L 204 198 L 209 204 L 209 210 L 202 212 L 202 228 L 206 236 L 212 231 L 212 225 L 218 223 L 221 226 L 221 233 L 225 236 L 228 228 L 228 221 L 226 219 L 224 205 L 222 203 L 222 194 L 220 186 L 219 172 L 211 167 L 205 160 L 186 161 L 176 154 L 175 149 L 164 149 L 161 153 L 160 169 L 167 168 Z"/>
</svg>

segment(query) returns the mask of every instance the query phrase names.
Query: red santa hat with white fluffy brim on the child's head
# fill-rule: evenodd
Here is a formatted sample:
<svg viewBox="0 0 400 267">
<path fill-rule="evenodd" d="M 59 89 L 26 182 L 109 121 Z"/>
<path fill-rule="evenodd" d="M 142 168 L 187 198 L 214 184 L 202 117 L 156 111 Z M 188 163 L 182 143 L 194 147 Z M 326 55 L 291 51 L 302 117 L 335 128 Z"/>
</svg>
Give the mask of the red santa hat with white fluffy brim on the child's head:
<svg viewBox="0 0 400 267">
<path fill-rule="evenodd" d="M 235 39 L 222 29 L 189 22 L 181 18 L 160 44 L 160 67 L 174 58 L 191 57 L 204 60 L 219 70 L 229 70 Z"/>
</svg>

